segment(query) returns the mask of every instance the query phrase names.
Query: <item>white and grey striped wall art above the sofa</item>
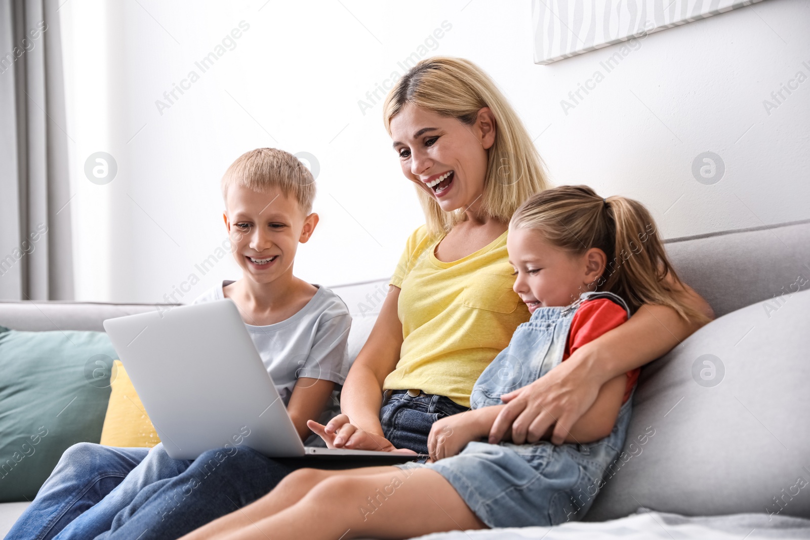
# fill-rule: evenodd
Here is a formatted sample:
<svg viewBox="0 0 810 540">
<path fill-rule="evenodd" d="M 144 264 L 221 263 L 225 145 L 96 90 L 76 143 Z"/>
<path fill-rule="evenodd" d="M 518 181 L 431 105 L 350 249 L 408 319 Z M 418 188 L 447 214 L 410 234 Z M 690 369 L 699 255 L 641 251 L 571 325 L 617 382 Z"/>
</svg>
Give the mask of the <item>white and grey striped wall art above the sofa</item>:
<svg viewBox="0 0 810 540">
<path fill-rule="evenodd" d="M 550 64 L 762 1 L 532 0 L 535 64 Z"/>
</svg>

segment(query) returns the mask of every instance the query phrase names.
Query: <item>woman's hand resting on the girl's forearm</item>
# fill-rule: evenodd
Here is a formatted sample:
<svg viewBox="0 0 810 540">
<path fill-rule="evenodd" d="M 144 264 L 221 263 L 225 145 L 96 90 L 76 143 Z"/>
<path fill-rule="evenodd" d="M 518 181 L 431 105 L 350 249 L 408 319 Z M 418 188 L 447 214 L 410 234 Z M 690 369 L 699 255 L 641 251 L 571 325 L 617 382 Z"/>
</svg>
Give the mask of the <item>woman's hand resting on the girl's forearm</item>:
<svg viewBox="0 0 810 540">
<path fill-rule="evenodd" d="M 492 423 L 490 444 L 501 441 L 509 427 L 514 444 L 536 443 L 552 426 L 552 443 L 565 442 L 573 424 L 590 409 L 602 387 L 602 381 L 589 376 L 590 372 L 572 359 L 530 385 L 501 396 L 506 405 Z"/>
</svg>

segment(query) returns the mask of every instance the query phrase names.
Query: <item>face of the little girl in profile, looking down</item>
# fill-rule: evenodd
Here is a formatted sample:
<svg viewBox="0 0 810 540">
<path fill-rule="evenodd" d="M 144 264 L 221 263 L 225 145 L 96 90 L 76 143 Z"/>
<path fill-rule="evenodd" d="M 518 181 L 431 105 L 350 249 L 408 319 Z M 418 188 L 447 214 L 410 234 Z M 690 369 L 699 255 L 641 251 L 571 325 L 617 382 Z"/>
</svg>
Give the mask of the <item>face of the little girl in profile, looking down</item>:
<svg viewBox="0 0 810 540">
<path fill-rule="evenodd" d="M 527 228 L 509 227 L 506 249 L 515 270 L 514 291 L 530 313 L 540 307 L 566 306 L 583 292 L 595 290 L 607 260 L 599 248 L 575 255 Z"/>
</svg>

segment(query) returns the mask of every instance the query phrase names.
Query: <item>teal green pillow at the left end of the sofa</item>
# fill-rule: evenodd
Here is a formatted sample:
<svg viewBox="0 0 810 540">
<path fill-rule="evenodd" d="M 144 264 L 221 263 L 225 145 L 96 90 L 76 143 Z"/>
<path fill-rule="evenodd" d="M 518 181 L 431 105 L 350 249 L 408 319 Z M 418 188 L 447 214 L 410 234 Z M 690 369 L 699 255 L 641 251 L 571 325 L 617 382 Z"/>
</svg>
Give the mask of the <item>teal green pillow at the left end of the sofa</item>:
<svg viewBox="0 0 810 540">
<path fill-rule="evenodd" d="M 33 500 L 67 447 L 99 442 L 116 357 L 104 332 L 0 326 L 0 502 Z"/>
</svg>

